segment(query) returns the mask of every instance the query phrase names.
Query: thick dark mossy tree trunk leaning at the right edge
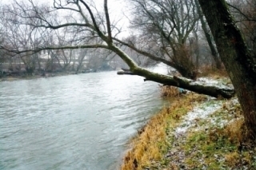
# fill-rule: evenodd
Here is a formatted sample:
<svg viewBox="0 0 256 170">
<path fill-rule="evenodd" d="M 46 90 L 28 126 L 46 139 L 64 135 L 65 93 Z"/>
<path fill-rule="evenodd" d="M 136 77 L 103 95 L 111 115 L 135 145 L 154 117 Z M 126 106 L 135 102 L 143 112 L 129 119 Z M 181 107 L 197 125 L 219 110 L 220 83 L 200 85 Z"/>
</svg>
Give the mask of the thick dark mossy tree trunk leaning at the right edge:
<svg viewBox="0 0 256 170">
<path fill-rule="evenodd" d="M 238 95 L 246 126 L 256 136 L 256 58 L 250 54 L 224 0 L 199 2 Z"/>
</svg>

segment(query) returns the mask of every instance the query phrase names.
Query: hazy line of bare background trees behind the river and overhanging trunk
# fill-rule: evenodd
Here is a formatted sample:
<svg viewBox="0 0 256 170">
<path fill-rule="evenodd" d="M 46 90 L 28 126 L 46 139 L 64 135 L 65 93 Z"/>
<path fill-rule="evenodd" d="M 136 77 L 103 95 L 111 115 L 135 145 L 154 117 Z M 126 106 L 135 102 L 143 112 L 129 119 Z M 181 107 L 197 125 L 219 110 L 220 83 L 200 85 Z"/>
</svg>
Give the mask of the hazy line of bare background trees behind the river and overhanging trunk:
<svg viewBox="0 0 256 170">
<path fill-rule="evenodd" d="M 82 2 L 70 1 L 66 5 L 75 4 L 81 8 Z M 113 39 L 136 64 L 146 67 L 163 62 L 176 69 L 183 77 L 194 80 L 198 75 L 199 65 L 222 69 L 218 49 L 198 0 L 127 0 L 126 2 L 130 4 L 128 8 L 132 9 L 130 30 L 133 30 L 133 34 L 121 39 L 115 36 Z M 54 7 L 62 11 L 69 10 L 62 6 L 62 3 L 54 1 Z M 247 44 L 250 45 L 253 53 L 256 53 L 253 3 L 252 0 L 232 0 L 229 5 Z M 89 5 L 95 4 L 92 2 Z M 33 10 L 28 10 L 30 7 Z M 20 10 L 14 11 L 14 9 Z M 84 22 L 84 18 L 74 17 L 75 13 L 82 15 L 80 10 L 73 9 L 73 13 L 63 15 L 57 11 L 53 12 L 49 5 L 36 4 L 33 1 L 14 1 L 11 6 L 2 5 L 0 43 L 4 49 L 13 52 L 43 49 L 46 46 L 102 44 L 102 39 L 95 34 L 95 30 L 83 29 L 82 25 L 75 24 Z M 97 17 L 99 27 L 106 33 L 102 14 L 98 12 Z M 62 26 L 64 21 L 72 24 Z M 117 29 L 117 24 L 111 23 L 111 27 L 118 35 L 122 30 Z M 18 71 L 41 73 L 42 70 L 79 73 L 128 67 L 126 62 L 115 56 L 111 50 L 88 48 L 53 48 L 38 50 L 38 53 L 35 51 L 6 53 L 2 50 L 0 63 L 0 71 L 14 73 Z"/>
</svg>

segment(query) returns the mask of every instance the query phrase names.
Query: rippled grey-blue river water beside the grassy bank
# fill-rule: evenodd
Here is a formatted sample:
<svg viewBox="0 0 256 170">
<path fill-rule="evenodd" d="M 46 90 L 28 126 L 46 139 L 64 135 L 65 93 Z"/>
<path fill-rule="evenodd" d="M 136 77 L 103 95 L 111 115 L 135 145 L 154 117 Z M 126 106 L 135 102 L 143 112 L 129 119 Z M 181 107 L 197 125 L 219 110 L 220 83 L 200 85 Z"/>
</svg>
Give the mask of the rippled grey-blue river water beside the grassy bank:
<svg viewBox="0 0 256 170">
<path fill-rule="evenodd" d="M 0 169 L 117 169 L 159 96 L 157 83 L 116 72 L 2 81 Z"/>
</svg>

